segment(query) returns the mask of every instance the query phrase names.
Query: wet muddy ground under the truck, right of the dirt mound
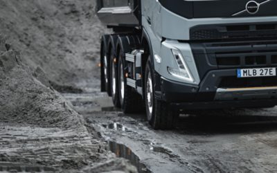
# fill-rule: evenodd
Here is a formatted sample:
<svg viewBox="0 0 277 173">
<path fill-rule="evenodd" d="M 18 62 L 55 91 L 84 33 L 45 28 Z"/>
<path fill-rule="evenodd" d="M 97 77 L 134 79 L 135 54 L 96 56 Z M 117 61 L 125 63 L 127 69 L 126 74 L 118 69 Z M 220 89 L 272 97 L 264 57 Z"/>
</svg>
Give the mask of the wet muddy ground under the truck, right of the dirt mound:
<svg viewBox="0 0 277 173">
<path fill-rule="evenodd" d="M 64 96 L 139 172 L 277 172 L 277 108 L 182 115 L 176 129 L 155 131 L 97 88 Z"/>
</svg>

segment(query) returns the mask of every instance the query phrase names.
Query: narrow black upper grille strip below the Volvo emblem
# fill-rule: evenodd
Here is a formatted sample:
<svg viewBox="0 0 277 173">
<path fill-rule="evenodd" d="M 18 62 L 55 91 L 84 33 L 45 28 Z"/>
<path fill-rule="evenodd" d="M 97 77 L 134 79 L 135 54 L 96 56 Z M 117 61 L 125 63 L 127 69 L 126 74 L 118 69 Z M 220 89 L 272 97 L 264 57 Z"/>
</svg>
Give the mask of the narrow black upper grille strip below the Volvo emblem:
<svg viewBox="0 0 277 173">
<path fill-rule="evenodd" d="M 277 37 L 277 24 L 236 26 L 195 26 L 190 29 L 190 39 L 239 39 Z"/>
</svg>

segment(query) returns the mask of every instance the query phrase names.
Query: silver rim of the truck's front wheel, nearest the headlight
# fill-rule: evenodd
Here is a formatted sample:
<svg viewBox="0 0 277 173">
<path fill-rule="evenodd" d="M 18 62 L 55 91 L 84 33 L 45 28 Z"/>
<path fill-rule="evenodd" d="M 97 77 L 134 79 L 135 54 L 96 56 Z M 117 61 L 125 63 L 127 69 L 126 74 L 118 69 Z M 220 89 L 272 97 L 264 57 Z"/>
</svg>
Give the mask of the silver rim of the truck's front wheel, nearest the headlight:
<svg viewBox="0 0 277 173">
<path fill-rule="evenodd" d="M 152 87 L 152 77 L 148 73 L 148 80 L 146 83 L 146 97 L 147 97 L 147 107 L 148 107 L 148 120 L 152 119 L 153 113 L 153 87 Z"/>
</svg>

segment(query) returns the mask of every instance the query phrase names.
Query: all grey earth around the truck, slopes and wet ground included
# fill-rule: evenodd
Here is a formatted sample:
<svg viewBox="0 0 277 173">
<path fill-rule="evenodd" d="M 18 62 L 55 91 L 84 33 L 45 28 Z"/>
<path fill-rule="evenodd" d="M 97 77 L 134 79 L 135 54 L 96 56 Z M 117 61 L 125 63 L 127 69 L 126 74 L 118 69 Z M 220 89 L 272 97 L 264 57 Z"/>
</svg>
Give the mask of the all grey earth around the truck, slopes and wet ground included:
<svg viewBox="0 0 277 173">
<path fill-rule="evenodd" d="M 172 131 L 114 109 L 93 8 L 0 0 L 0 172 L 277 172 L 276 108 L 182 115 Z"/>
</svg>

